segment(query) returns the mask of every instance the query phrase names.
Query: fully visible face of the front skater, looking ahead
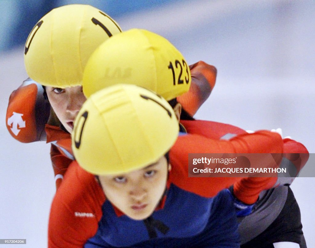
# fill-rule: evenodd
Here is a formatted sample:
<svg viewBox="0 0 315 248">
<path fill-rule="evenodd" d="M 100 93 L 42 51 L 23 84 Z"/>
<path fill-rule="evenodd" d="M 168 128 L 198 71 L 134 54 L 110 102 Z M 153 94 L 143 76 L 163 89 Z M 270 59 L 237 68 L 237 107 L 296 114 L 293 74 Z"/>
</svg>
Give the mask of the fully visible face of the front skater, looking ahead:
<svg viewBox="0 0 315 248">
<path fill-rule="evenodd" d="M 144 220 L 156 209 L 166 189 L 170 165 L 161 157 L 156 163 L 129 173 L 99 176 L 106 198 L 125 215 Z"/>
</svg>

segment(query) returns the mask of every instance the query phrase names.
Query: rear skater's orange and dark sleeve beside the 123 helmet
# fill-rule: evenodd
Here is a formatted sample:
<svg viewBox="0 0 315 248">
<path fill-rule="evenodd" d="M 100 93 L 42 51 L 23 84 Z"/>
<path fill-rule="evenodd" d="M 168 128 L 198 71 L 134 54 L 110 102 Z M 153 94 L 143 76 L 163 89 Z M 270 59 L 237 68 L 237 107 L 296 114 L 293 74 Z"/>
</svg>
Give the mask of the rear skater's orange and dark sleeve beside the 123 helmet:
<svg viewBox="0 0 315 248">
<path fill-rule="evenodd" d="M 177 101 L 191 115 L 194 116 L 199 107 L 208 99 L 213 87 L 217 70 L 215 66 L 199 61 L 189 66 L 192 83 L 189 91 L 177 97 Z"/>
</svg>

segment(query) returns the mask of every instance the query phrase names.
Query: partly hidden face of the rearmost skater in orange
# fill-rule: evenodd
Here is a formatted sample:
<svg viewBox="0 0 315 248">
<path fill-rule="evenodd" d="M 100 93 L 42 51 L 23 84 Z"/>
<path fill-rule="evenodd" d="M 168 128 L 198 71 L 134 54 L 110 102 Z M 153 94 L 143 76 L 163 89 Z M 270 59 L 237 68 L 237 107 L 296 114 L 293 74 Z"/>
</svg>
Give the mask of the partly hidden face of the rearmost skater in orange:
<svg viewBox="0 0 315 248">
<path fill-rule="evenodd" d="M 65 89 L 46 86 L 46 93 L 49 103 L 60 122 L 71 133 L 74 119 L 86 100 L 82 86 Z"/>
</svg>

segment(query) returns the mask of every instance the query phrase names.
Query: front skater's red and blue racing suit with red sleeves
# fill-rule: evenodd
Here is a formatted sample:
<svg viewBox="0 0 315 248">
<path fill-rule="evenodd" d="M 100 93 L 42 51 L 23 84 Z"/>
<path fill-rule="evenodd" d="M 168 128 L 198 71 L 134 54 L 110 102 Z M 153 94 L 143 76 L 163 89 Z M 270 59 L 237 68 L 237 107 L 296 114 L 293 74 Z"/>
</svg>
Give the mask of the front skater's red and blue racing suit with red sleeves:
<svg viewBox="0 0 315 248">
<path fill-rule="evenodd" d="M 213 124 L 206 121 L 190 122 L 186 125 L 189 126 L 188 130 L 191 127 L 196 133 L 202 133 L 205 129 L 211 130 Z M 164 239 L 179 239 L 176 240 L 178 244 L 181 239 L 195 237 L 198 234 L 203 234 L 203 238 L 206 239 L 215 232 L 216 228 L 219 228 L 217 225 L 212 226 L 218 219 L 223 223 L 229 221 L 232 225 L 236 223 L 232 222 L 230 217 L 229 220 L 225 216 L 219 217 L 221 211 L 226 215 L 233 213 L 229 208 L 231 203 L 221 204 L 217 206 L 218 208 L 213 205 L 215 196 L 222 189 L 234 183 L 235 193 L 237 195 L 241 193 L 239 199 L 252 204 L 257 200 L 261 190 L 273 187 L 277 181 L 276 177 L 189 178 L 188 153 L 200 151 L 282 153 L 283 141 L 280 135 L 269 131 L 257 131 L 250 135 L 240 134 L 231 140 L 213 140 L 204 135 L 189 133 L 179 136 L 169 153 L 172 170 L 169 174 L 167 193 L 152 214 L 152 219 L 144 223 L 129 219 L 106 201 L 94 176 L 81 169 L 74 161 L 69 166 L 64 182 L 56 192 L 52 203 L 49 217 L 49 247 L 82 247 L 85 244 L 101 247 L 133 246 L 141 242 L 148 242 L 151 245 L 151 242 L 156 242 L 155 245 L 160 245 L 159 242 L 163 242 Z M 228 208 L 228 211 L 225 211 L 225 208 Z M 152 227 L 151 229 L 147 227 L 149 223 L 146 222 L 156 223 L 156 221 L 165 224 L 168 229 L 165 232 L 162 230 L 162 233 L 155 232 L 155 239 L 152 239 L 151 234 L 154 230 Z M 221 223 L 217 224 L 221 225 Z M 191 247 L 201 245 L 199 241 L 197 238 L 189 240 L 192 242 Z"/>
</svg>

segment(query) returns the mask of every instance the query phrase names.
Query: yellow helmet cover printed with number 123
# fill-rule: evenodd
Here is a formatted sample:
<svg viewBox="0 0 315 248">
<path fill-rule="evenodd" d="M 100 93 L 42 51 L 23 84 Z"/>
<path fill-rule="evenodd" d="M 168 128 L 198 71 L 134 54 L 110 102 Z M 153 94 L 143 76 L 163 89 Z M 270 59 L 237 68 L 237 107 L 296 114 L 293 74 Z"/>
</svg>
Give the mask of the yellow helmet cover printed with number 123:
<svg viewBox="0 0 315 248">
<path fill-rule="evenodd" d="M 183 55 L 167 39 L 143 29 L 106 40 L 93 52 L 83 73 L 87 97 L 113 84 L 136 84 L 169 101 L 188 91 L 190 83 Z"/>
</svg>

